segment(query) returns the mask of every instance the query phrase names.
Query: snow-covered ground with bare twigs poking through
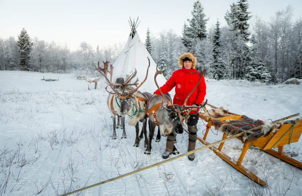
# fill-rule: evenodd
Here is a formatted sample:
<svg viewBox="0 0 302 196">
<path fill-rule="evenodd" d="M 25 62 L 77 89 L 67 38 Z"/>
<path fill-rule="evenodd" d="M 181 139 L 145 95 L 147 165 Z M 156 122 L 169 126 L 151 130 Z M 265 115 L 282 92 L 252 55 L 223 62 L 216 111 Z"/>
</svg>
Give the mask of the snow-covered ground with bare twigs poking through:
<svg viewBox="0 0 302 196">
<path fill-rule="evenodd" d="M 59 81 L 40 80 L 43 76 L 59 77 Z M 237 114 L 277 120 L 302 112 L 302 85 L 210 79 L 206 83 L 208 103 Z M 1 71 L 0 195 L 60 195 L 162 161 L 164 137 L 159 143 L 153 140 L 151 155 L 144 154 L 143 142 L 133 147 L 134 127 L 126 126 L 126 139 L 120 139 L 121 129 L 117 129 L 118 139 L 111 139 L 106 99 L 104 89 L 88 91 L 87 82 L 73 74 Z M 201 138 L 204 129 L 200 120 Z M 215 135 L 217 131 L 212 130 L 210 143 L 222 138 L 222 133 Z M 177 135 L 177 140 L 178 151 L 186 152 L 188 135 Z M 201 146 L 198 142 L 197 148 Z M 223 152 L 236 159 L 242 146 L 233 139 Z M 284 151 L 302 161 L 302 139 Z M 192 162 L 182 157 L 80 195 L 302 194 L 302 170 L 261 150 L 250 148 L 243 165 L 266 181 L 267 188 L 255 185 L 209 149 L 195 156 Z"/>
</svg>

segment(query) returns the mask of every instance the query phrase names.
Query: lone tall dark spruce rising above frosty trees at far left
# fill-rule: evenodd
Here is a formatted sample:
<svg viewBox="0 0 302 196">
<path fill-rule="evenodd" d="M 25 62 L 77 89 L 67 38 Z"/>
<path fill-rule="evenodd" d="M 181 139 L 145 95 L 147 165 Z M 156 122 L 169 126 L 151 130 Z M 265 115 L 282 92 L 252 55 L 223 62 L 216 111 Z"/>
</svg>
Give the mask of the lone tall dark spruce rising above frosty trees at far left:
<svg viewBox="0 0 302 196">
<path fill-rule="evenodd" d="M 25 71 L 27 71 L 27 58 L 29 57 L 33 43 L 30 42 L 30 37 L 24 28 L 22 28 L 21 33 L 18 36 L 17 45 L 20 48 L 20 65 Z"/>
</svg>

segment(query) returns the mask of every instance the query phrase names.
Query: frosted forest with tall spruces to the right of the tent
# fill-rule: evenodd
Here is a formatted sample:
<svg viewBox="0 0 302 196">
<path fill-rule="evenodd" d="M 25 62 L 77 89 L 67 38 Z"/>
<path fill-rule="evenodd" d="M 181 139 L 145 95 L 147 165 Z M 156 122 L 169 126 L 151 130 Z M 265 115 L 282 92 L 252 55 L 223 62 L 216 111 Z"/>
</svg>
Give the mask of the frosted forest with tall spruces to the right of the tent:
<svg viewBox="0 0 302 196">
<path fill-rule="evenodd" d="M 168 79 L 178 69 L 178 57 L 192 52 L 197 67 L 207 68 L 206 76 L 214 79 L 248 79 L 280 83 L 302 78 L 302 19 L 292 20 L 293 8 L 277 11 L 269 21 L 248 11 L 247 0 L 230 5 L 224 19 L 227 26 L 206 29 L 209 20 L 199 1 L 194 2 L 192 18 L 182 29 L 182 36 L 173 30 L 152 36 L 149 29 L 146 48 Z"/>
</svg>

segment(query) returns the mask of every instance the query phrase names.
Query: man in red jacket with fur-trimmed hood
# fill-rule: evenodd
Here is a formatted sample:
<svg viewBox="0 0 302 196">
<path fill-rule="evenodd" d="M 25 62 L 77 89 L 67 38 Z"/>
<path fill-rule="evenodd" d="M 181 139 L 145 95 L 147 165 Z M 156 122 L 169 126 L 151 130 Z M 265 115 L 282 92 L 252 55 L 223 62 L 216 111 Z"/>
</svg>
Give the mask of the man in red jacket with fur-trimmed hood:
<svg viewBox="0 0 302 196">
<path fill-rule="evenodd" d="M 172 76 L 169 80 L 160 87 L 162 93 L 167 93 L 175 87 L 175 96 L 173 98 L 173 104 L 182 105 L 184 104 L 185 99 L 188 97 L 189 93 L 194 89 L 199 80 L 199 75 L 193 72 L 198 72 L 195 69 L 197 64 L 197 60 L 192 53 L 185 52 L 179 57 L 178 66 L 182 67 L 182 69 L 176 70 L 173 72 Z M 204 101 L 204 97 L 206 95 L 206 84 L 204 81 L 204 76 L 201 76 L 201 81 L 198 87 L 194 90 L 187 101 L 187 105 L 199 106 L 198 102 L 202 103 Z M 161 95 L 159 90 L 154 92 L 157 95 Z M 154 96 L 154 95 L 153 95 Z M 190 118 L 188 120 L 188 132 L 189 132 L 189 144 L 188 151 L 192 151 L 195 149 L 196 145 L 196 132 L 197 123 L 198 123 L 198 111 L 199 108 L 193 108 L 190 112 Z M 168 158 L 173 151 L 173 145 L 176 138 L 176 133 L 173 131 L 167 136 L 166 142 L 166 150 L 162 154 L 164 159 Z M 194 160 L 194 153 L 188 156 L 189 160 Z"/>
</svg>

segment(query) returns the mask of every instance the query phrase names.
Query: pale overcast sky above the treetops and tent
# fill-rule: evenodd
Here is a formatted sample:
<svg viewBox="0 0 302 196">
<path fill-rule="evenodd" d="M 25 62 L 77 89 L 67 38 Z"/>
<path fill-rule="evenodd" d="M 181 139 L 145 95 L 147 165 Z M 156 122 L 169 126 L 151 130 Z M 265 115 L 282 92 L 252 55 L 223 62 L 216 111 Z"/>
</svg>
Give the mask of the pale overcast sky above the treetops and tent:
<svg viewBox="0 0 302 196">
<path fill-rule="evenodd" d="M 200 2 L 204 13 L 210 17 L 207 27 L 215 24 L 217 18 L 226 25 L 224 15 L 234 1 Z M 266 21 L 288 5 L 295 9 L 294 20 L 301 16 L 302 0 L 248 2 L 251 15 L 257 14 Z M 185 20 L 191 19 L 193 3 L 194 0 L 0 0 L 0 37 L 14 36 L 17 39 L 25 28 L 31 38 L 37 36 L 47 42 L 66 42 L 71 50 L 76 50 L 80 42 L 85 41 L 95 49 L 97 45 L 126 42 L 130 33 L 128 19 L 138 16 L 141 21 L 137 32 L 142 40 L 146 38 L 147 27 L 151 33 L 173 29 L 181 35 Z"/>
</svg>

